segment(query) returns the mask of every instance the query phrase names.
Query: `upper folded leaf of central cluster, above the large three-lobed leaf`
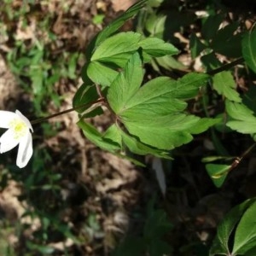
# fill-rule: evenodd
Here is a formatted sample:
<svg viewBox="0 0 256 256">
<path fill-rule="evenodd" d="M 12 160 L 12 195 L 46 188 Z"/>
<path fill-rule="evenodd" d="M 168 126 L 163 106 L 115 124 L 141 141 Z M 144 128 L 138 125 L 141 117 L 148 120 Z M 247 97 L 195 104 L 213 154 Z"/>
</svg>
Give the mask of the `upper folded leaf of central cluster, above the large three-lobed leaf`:
<svg viewBox="0 0 256 256">
<path fill-rule="evenodd" d="M 172 44 L 166 44 L 158 38 L 143 38 L 143 35 L 136 32 L 121 32 L 107 38 L 95 49 L 87 66 L 88 77 L 96 84 L 109 86 L 118 74 L 111 65 L 125 67 L 131 55 L 140 48 L 143 49 L 143 62 L 153 56 L 177 54 Z"/>
</svg>

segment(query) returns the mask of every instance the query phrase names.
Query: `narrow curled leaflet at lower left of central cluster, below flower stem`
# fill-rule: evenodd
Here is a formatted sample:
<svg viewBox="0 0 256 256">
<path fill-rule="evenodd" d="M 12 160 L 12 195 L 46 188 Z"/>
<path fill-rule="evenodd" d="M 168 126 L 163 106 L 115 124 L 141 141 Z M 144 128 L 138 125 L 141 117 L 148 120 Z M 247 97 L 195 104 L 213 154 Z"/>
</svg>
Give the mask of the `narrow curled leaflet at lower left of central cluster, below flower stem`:
<svg viewBox="0 0 256 256">
<path fill-rule="evenodd" d="M 118 143 L 114 142 L 111 139 L 108 139 L 108 137 L 104 138 L 102 133 L 97 131 L 93 125 L 84 122 L 83 119 L 79 120 L 78 125 L 84 132 L 84 136 L 87 137 L 92 143 L 96 144 L 96 146 L 98 146 L 99 148 L 113 153 L 120 149 Z"/>
</svg>

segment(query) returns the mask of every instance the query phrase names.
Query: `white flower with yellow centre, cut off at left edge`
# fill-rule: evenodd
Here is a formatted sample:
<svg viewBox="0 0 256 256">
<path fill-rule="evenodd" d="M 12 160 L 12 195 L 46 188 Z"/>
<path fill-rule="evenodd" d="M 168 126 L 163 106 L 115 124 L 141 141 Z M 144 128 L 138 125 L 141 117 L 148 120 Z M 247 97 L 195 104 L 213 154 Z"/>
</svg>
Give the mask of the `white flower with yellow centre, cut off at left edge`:
<svg viewBox="0 0 256 256">
<path fill-rule="evenodd" d="M 30 121 L 19 110 L 15 113 L 0 110 L 0 128 L 8 129 L 0 137 L 0 153 L 7 152 L 19 144 L 16 165 L 25 167 L 33 153 L 33 129 Z"/>
</svg>

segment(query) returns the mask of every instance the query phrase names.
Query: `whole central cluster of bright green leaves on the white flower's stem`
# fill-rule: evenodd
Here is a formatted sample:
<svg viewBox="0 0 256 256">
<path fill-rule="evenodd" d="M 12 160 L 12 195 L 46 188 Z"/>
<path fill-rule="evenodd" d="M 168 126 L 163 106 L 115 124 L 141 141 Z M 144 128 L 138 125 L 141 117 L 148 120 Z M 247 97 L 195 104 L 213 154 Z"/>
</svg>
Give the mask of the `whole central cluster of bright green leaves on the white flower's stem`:
<svg viewBox="0 0 256 256">
<path fill-rule="evenodd" d="M 123 22 L 125 18 L 118 19 Z M 166 150 L 189 143 L 193 138 L 191 134 L 206 131 L 217 122 L 213 119 L 201 120 L 183 112 L 187 107 L 185 101 L 198 94 L 200 87 L 207 84 L 209 76 L 190 73 L 179 80 L 159 77 L 142 86 L 143 63 L 153 57 L 177 54 L 178 51 L 172 44 L 159 38 L 144 38 L 138 32 L 120 32 L 107 38 L 118 27 L 113 22 L 106 28 L 107 32 L 103 30 L 100 33 L 103 36 L 89 53 L 90 61 L 83 69 L 86 73 L 84 85 L 73 101 L 74 107 L 88 102 L 88 99 L 93 104 L 97 90 L 88 86 L 98 84 L 102 88 L 101 96 L 106 97 L 109 110 L 118 120 L 111 126 L 116 136 L 109 137 L 108 130 L 106 137 L 83 119 L 80 119 L 79 127 L 98 147 L 112 153 L 119 154 L 124 148 L 129 148 L 135 154 L 168 157 Z M 111 33 L 108 34 L 108 31 Z M 119 72 L 117 67 L 123 68 L 123 71 Z M 105 90 L 106 87 L 109 88 Z M 89 88 L 94 92 L 92 98 Z M 125 125 L 128 132 L 121 129 L 119 123 Z"/>
</svg>

